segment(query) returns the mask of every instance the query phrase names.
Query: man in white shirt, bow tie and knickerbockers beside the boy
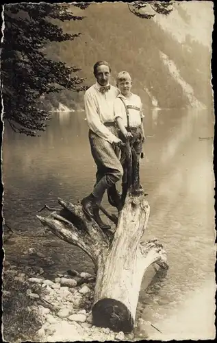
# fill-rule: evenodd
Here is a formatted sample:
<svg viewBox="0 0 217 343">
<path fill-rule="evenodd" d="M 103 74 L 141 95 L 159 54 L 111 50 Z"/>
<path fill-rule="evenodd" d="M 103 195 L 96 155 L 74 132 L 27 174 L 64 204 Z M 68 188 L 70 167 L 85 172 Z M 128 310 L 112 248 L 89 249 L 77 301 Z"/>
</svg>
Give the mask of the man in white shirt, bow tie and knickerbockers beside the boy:
<svg viewBox="0 0 217 343">
<path fill-rule="evenodd" d="M 109 84 L 111 68 L 105 61 L 94 64 L 94 76 L 97 82 L 84 95 L 84 106 L 88 122 L 89 141 L 92 156 L 97 165 L 97 182 L 90 196 L 81 200 L 83 211 L 94 218 L 102 229 L 110 228 L 99 217 L 99 205 L 107 189 L 123 176 L 123 167 L 118 160 L 116 147 L 121 143 L 118 139 L 114 123 L 114 99 L 118 88 Z"/>
</svg>

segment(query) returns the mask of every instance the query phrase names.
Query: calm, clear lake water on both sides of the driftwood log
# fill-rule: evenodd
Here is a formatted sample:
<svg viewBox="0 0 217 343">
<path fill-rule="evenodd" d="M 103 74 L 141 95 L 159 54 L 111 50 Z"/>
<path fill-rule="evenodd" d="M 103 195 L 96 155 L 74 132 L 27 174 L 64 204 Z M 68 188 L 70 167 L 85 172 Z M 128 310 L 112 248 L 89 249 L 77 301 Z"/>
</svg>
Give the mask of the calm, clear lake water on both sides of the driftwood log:
<svg viewBox="0 0 217 343">
<path fill-rule="evenodd" d="M 8 128 L 4 132 L 5 222 L 26 235 L 47 235 L 20 237 L 5 245 L 6 259 L 35 264 L 48 276 L 69 268 L 92 272 L 84 252 L 46 233 L 36 219 L 44 203 L 57 206 L 58 197 L 77 202 L 92 190 L 96 168 L 84 118 L 82 112 L 55 113 L 41 137 Z M 213 338 L 214 117 L 205 110 L 150 110 L 144 125 L 146 157 L 140 174 L 151 206 L 144 240 L 157 237 L 170 269 L 151 281 L 154 271 L 149 268 L 138 316 L 162 331 L 146 327 L 151 339 Z M 29 247 L 46 258 L 25 255 Z"/>
</svg>

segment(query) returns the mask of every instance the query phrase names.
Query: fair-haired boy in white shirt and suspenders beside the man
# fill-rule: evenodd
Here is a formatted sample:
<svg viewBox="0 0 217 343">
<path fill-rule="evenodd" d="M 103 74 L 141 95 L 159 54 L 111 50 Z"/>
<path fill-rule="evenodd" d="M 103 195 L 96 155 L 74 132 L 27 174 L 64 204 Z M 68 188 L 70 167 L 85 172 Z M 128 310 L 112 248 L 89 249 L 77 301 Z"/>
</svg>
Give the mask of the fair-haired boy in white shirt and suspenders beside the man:
<svg viewBox="0 0 217 343">
<path fill-rule="evenodd" d="M 131 76 L 127 71 L 120 71 L 116 78 L 116 85 L 120 94 L 114 100 L 114 117 L 120 129 L 120 139 L 129 139 L 136 151 L 137 158 L 142 156 L 142 143 L 144 143 L 144 129 L 142 119 L 142 102 L 138 95 L 131 93 Z M 126 172 L 123 183 L 127 182 Z M 140 186 L 140 188 L 142 188 Z M 144 192 L 144 195 L 148 193 Z"/>
</svg>

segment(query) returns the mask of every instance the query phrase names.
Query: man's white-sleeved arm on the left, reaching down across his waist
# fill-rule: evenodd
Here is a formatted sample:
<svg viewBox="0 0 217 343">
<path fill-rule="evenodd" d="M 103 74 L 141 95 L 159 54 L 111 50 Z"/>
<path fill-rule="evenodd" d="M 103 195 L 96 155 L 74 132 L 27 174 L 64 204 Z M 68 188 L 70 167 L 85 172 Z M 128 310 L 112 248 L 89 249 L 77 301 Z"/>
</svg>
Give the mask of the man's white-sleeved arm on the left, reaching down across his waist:
<svg viewBox="0 0 217 343">
<path fill-rule="evenodd" d="M 99 115 L 97 113 L 97 106 L 94 102 L 92 96 L 88 93 L 84 95 L 84 107 L 86 112 L 86 118 L 88 121 L 88 126 L 95 134 L 97 134 L 105 141 L 112 143 L 118 143 L 118 139 L 106 126 L 100 121 Z"/>
</svg>

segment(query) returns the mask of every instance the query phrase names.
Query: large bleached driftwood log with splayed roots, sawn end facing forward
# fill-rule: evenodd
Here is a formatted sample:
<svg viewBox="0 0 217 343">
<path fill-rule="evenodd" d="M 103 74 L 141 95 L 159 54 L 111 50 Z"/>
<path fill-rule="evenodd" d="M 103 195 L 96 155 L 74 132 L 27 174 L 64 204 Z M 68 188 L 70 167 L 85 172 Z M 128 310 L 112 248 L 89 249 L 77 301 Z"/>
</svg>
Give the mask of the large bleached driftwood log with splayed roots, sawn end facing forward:
<svg viewBox="0 0 217 343">
<path fill-rule="evenodd" d="M 123 208 L 118 217 L 100 208 L 116 224 L 114 232 L 103 232 L 97 222 L 84 215 L 81 204 L 60 198 L 60 211 L 53 211 L 47 217 L 37 215 L 56 236 L 79 246 L 92 259 L 97 274 L 92 306 L 94 325 L 125 333 L 133 329 L 144 272 L 152 263 L 168 268 L 166 252 L 157 239 L 141 242 L 150 208 L 142 191 L 138 191 L 138 161 L 132 158 L 129 146 L 127 154 L 131 168 L 127 193 L 122 198 Z"/>
</svg>

